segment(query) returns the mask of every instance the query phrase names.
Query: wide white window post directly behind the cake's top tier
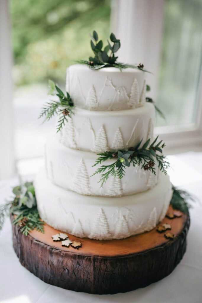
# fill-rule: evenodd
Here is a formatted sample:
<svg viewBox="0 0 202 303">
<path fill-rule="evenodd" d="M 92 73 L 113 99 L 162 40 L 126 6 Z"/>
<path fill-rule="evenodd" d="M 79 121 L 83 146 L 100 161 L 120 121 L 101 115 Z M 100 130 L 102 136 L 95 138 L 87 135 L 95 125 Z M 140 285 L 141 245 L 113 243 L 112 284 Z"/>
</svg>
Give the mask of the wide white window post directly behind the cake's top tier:
<svg viewBox="0 0 202 303">
<path fill-rule="evenodd" d="M 161 55 L 164 0 L 113 0 L 111 30 L 121 40 L 118 61 L 143 63 L 155 98 Z"/>
</svg>

